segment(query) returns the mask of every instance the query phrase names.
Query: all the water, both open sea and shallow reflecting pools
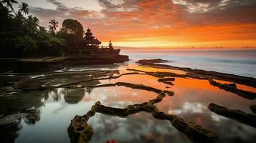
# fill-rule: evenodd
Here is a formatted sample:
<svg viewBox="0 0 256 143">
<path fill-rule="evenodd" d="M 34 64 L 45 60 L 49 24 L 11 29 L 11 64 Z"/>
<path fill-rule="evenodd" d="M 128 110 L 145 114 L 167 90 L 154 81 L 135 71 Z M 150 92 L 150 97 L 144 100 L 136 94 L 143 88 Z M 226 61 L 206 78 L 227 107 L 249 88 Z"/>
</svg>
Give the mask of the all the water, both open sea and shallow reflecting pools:
<svg viewBox="0 0 256 143">
<path fill-rule="evenodd" d="M 122 51 L 122 54 L 128 54 L 131 61 L 111 65 L 67 66 L 52 72 L 1 74 L 0 142 L 69 143 L 67 129 L 71 119 L 89 112 L 95 102 L 100 101 L 105 107 L 123 109 L 128 105 L 152 101 L 158 96 L 145 89 L 115 86 L 118 82 L 143 84 L 161 91 L 174 92 L 174 96 L 166 96 L 155 104 L 159 111 L 211 130 L 217 134 L 219 142 L 255 142 L 254 127 L 222 117 L 207 108 L 210 103 L 215 103 L 253 114 L 250 105 L 255 104 L 255 100 L 213 87 L 205 79 L 175 77 L 174 85 L 170 85 L 158 82 L 158 77 L 148 74 L 124 73 L 131 72 L 127 68 L 171 71 L 134 64 L 138 59 L 161 58 L 168 59 L 170 62 L 166 64 L 173 66 L 256 77 L 256 50 Z M 240 84 L 237 87 L 255 91 L 255 88 Z M 191 142 L 189 137 L 179 132 L 169 121 L 156 119 L 148 112 L 138 112 L 128 117 L 98 112 L 87 124 L 93 129 L 90 143 L 112 139 L 115 142 L 167 143 L 170 139 L 171 142 Z"/>
</svg>

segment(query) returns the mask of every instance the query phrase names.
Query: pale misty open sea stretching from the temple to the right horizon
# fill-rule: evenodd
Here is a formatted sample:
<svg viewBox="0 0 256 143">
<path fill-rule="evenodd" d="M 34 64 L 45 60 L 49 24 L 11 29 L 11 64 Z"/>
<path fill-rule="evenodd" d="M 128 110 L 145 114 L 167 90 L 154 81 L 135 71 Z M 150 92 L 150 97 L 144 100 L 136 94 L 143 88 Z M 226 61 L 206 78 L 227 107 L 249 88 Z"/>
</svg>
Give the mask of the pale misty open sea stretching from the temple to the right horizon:
<svg viewBox="0 0 256 143">
<path fill-rule="evenodd" d="M 166 59 L 171 66 L 190 67 L 237 74 L 256 78 L 256 50 L 171 50 L 171 51 L 123 51 L 132 61 L 139 59 Z"/>
</svg>

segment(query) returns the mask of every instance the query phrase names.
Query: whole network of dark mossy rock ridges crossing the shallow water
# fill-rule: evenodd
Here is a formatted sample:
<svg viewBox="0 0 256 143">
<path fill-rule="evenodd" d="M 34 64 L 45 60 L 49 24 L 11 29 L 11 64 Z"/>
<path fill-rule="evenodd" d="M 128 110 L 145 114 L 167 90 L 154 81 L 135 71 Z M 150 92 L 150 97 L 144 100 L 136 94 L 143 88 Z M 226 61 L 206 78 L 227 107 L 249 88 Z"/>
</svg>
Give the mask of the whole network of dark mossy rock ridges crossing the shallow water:
<svg viewBox="0 0 256 143">
<path fill-rule="evenodd" d="M 151 63 L 153 62 L 153 63 Z M 138 61 L 141 66 L 152 66 L 157 68 L 166 68 L 166 69 L 175 69 L 173 67 L 169 67 L 168 65 L 159 66 L 157 63 L 163 63 L 166 61 L 162 61 L 161 59 L 153 59 L 153 60 L 143 60 Z M 161 64 L 162 65 L 162 64 Z M 180 69 L 179 69 L 180 70 Z M 196 69 L 197 70 L 197 69 Z M 149 100 L 148 102 L 142 102 L 141 104 L 130 104 L 124 108 L 115 108 L 115 107 L 108 107 L 100 102 L 95 102 L 93 107 L 84 115 L 76 115 L 70 122 L 70 126 L 67 129 L 68 135 L 70 137 L 71 142 L 90 142 L 90 139 L 93 137 L 94 131 L 90 124 L 87 122 L 90 118 L 98 114 L 107 114 L 113 117 L 128 117 L 130 115 L 136 114 L 138 112 L 147 112 L 151 114 L 155 119 L 160 120 L 167 120 L 170 124 L 176 128 L 179 132 L 186 135 L 191 142 L 222 142 L 218 134 L 212 132 L 211 129 L 207 129 L 203 127 L 201 124 L 197 122 L 190 122 L 189 120 L 183 119 L 179 116 L 179 114 L 173 113 L 165 113 L 162 112 L 156 107 L 157 103 L 162 102 L 163 98 L 174 98 L 175 93 L 171 91 L 172 87 L 175 86 L 175 83 L 179 79 L 199 79 L 209 82 L 209 86 L 218 87 L 219 89 L 223 89 L 225 92 L 232 92 L 233 94 L 237 94 L 245 99 L 253 100 L 255 99 L 255 93 L 245 91 L 242 89 L 238 89 L 236 84 L 221 84 L 216 82 L 216 79 L 223 79 L 222 73 L 211 75 L 210 73 L 214 71 L 203 71 L 207 74 L 199 74 L 194 72 L 194 69 L 184 69 L 182 71 L 186 71 L 185 74 L 177 74 L 171 71 L 143 71 L 141 69 L 125 69 L 126 72 L 119 73 L 116 71 L 75 71 L 75 72 L 63 72 L 63 73 L 48 73 L 43 78 L 36 78 L 36 79 L 26 79 L 21 80 L 20 82 L 16 82 L 10 91 L 6 91 L 6 93 L 1 92 L 1 94 L 8 95 L 12 92 L 37 92 L 37 91 L 52 91 L 56 89 L 70 89 L 70 92 L 75 92 L 76 95 L 67 94 L 64 97 L 65 101 L 70 104 L 76 104 L 79 102 L 83 94 L 81 91 L 84 89 L 97 89 L 103 87 L 126 87 L 128 89 L 137 89 L 145 92 L 153 92 L 156 94 L 156 98 Z M 118 75 L 114 75 L 114 74 Z M 191 74 L 193 73 L 193 74 Z M 80 77 L 77 77 L 79 75 Z M 113 82 L 113 83 L 101 83 L 100 81 L 103 80 L 110 80 L 110 79 L 121 79 L 121 77 L 129 77 L 129 76 L 136 76 L 136 75 L 146 75 L 153 77 L 156 79 L 158 84 L 166 84 L 168 85 L 165 89 L 159 89 L 158 87 L 148 86 L 141 83 L 131 83 L 131 82 Z M 219 77 L 220 75 L 220 77 Z M 40 86 L 40 83 L 47 81 L 47 79 L 52 79 L 53 77 L 76 77 L 77 79 L 74 81 L 65 81 L 62 84 L 53 84 Z M 85 78 L 86 77 L 86 78 Z M 232 75 L 230 77 L 236 77 Z M 247 80 L 247 78 L 238 78 L 238 81 Z M 248 78 L 250 81 L 254 81 L 253 78 Z M 227 78 L 229 81 L 230 78 Z M 234 80 L 234 79 L 232 79 Z M 33 85 L 32 85 L 33 83 Z M 29 85 L 26 87 L 26 85 Z M 75 97 L 74 97 L 75 96 Z M 255 113 L 255 105 L 248 107 L 251 109 L 253 113 Z M 222 107 L 218 104 L 209 104 L 208 106 L 209 111 L 212 111 L 220 116 L 227 117 L 229 119 L 234 119 L 236 121 L 242 122 L 242 124 L 248 124 L 249 126 L 256 127 L 255 125 L 255 115 L 249 114 L 246 112 L 242 112 L 240 110 L 228 109 L 227 107 Z M 26 112 L 25 112 L 26 113 Z M 15 115 L 15 116 L 14 116 Z M 15 119 L 9 120 L 7 117 L 0 118 L 0 124 L 6 124 L 10 122 L 15 122 L 16 119 L 20 118 L 27 118 L 29 114 L 21 114 L 22 116 L 16 116 L 14 114 L 11 117 L 15 117 Z M 19 115 L 19 114 L 18 114 Z M 8 121 L 9 120 L 9 121 Z M 8 121 L 8 122 L 6 122 Z"/>
</svg>

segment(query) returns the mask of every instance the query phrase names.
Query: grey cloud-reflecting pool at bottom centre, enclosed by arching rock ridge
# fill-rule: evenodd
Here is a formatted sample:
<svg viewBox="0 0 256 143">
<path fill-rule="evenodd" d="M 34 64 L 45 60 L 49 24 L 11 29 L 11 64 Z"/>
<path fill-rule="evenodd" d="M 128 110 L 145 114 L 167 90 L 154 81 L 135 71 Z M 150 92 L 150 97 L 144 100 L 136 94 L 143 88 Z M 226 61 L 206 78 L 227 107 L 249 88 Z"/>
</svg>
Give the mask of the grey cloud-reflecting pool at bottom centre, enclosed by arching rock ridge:
<svg viewBox="0 0 256 143">
<path fill-rule="evenodd" d="M 95 114 L 88 124 L 93 127 L 90 142 L 190 142 L 170 122 L 154 119 L 151 114 L 141 112 L 127 118 Z"/>
</svg>

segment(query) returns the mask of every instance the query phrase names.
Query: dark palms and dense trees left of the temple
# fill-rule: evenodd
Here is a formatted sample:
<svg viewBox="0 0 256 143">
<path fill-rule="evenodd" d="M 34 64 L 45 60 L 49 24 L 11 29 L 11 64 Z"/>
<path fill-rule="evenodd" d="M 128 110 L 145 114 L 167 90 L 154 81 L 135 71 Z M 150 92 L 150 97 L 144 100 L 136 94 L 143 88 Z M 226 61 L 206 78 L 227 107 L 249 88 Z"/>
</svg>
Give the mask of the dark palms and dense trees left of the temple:
<svg viewBox="0 0 256 143">
<path fill-rule="evenodd" d="M 62 56 L 65 49 L 82 45 L 82 24 L 66 19 L 60 31 L 58 21 L 49 21 L 49 29 L 29 14 L 29 5 L 22 2 L 18 11 L 15 0 L 0 1 L 0 58 Z M 66 42 L 67 41 L 67 42 Z"/>
</svg>

